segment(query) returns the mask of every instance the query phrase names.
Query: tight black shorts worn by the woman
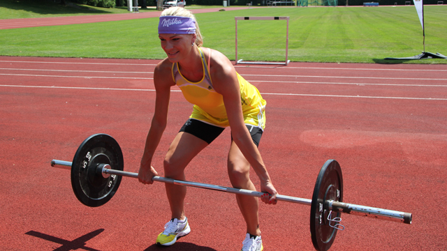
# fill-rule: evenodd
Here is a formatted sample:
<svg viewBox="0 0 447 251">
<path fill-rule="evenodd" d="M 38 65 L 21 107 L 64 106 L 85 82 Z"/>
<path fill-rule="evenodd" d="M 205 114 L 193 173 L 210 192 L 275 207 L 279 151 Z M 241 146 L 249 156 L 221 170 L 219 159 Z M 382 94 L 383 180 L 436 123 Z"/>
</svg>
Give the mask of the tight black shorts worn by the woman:
<svg viewBox="0 0 447 251">
<path fill-rule="evenodd" d="M 256 126 L 246 126 L 250 132 L 251 139 L 253 139 L 254 144 L 256 144 L 256 146 L 259 146 L 261 136 L 263 135 L 263 130 L 261 130 L 261 128 L 257 128 Z M 225 128 L 213 126 L 197 119 L 188 119 L 180 129 L 180 132 L 188 132 L 189 134 L 194 135 L 199 139 L 203 139 L 208 144 L 211 144 L 214 139 L 221 135 L 223 130 L 225 130 Z M 231 137 L 231 140 L 233 141 L 233 137 Z"/>
</svg>

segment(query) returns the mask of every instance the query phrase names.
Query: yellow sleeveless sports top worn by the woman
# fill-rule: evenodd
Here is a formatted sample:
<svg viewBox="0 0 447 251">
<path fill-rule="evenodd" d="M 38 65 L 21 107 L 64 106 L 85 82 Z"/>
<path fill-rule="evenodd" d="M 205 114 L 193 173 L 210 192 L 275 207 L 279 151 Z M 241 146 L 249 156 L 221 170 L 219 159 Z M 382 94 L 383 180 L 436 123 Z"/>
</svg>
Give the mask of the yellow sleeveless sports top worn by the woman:
<svg viewBox="0 0 447 251">
<path fill-rule="evenodd" d="M 190 82 L 180 73 L 178 63 L 173 63 L 174 82 L 182 90 L 184 98 L 194 105 L 193 113 L 189 116 L 191 119 L 197 119 L 219 127 L 230 126 L 225 105 L 223 105 L 223 97 L 214 90 L 210 68 L 207 66 L 207 61 L 200 48 L 199 52 L 202 56 L 203 78 L 199 82 Z M 246 125 L 264 130 L 266 102 L 255 86 L 247 82 L 238 73 L 236 74 L 239 80 L 244 122 Z"/>
</svg>

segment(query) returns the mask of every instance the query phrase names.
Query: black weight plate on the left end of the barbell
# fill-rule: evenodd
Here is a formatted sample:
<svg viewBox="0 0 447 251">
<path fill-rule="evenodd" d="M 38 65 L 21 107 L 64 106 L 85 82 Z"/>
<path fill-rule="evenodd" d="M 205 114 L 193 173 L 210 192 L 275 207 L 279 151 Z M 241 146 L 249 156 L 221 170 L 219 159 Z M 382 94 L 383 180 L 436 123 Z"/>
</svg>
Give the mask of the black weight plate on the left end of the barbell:
<svg viewBox="0 0 447 251">
<path fill-rule="evenodd" d="M 104 178 L 96 172 L 98 165 L 123 170 L 123 154 L 115 139 L 105 134 L 91 135 L 79 146 L 71 165 L 71 186 L 76 197 L 86 206 L 102 206 L 112 199 L 122 176 Z"/>
</svg>

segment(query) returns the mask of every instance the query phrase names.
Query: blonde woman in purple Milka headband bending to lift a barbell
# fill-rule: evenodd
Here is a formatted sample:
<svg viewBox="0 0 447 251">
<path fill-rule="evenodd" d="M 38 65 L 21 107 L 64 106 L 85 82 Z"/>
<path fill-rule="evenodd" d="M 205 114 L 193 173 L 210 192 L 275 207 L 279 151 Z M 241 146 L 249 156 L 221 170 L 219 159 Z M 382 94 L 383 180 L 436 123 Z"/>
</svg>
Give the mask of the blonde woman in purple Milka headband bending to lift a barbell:
<svg viewBox="0 0 447 251">
<path fill-rule="evenodd" d="M 238 75 L 233 64 L 220 52 L 201 47 L 203 39 L 196 18 L 184 8 L 168 8 L 159 22 L 161 47 L 167 58 L 154 70 L 155 112 L 147 135 L 138 178 L 145 184 L 157 176 L 152 156 L 166 128 L 170 87 L 177 84 L 184 97 L 193 103 L 193 112 L 170 145 L 163 162 L 165 176 L 185 180 L 186 165 L 226 128 L 231 129 L 228 176 L 234 188 L 256 190 L 249 178 L 250 165 L 261 181 L 261 200 L 276 204 L 272 185 L 257 146 L 265 128 L 265 100 L 258 90 Z M 189 234 L 184 213 L 186 187 L 166 183 L 171 220 L 156 243 L 173 245 Z M 270 196 L 268 194 L 270 194 Z M 236 195 L 247 223 L 242 250 L 263 250 L 258 226 L 258 199 Z"/>
</svg>

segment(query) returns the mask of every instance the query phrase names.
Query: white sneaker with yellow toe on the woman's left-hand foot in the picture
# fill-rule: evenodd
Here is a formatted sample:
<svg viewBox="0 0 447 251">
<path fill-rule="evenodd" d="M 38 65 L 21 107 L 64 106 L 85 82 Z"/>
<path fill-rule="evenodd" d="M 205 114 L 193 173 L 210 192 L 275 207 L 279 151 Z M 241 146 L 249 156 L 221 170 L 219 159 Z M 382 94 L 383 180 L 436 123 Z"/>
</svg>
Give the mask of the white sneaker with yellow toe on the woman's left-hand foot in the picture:
<svg viewBox="0 0 447 251">
<path fill-rule="evenodd" d="M 156 238 L 158 245 L 173 245 L 177 238 L 186 236 L 191 229 L 189 228 L 188 219 L 179 222 L 177 218 L 170 220 L 165 225 L 165 230 Z"/>
</svg>

